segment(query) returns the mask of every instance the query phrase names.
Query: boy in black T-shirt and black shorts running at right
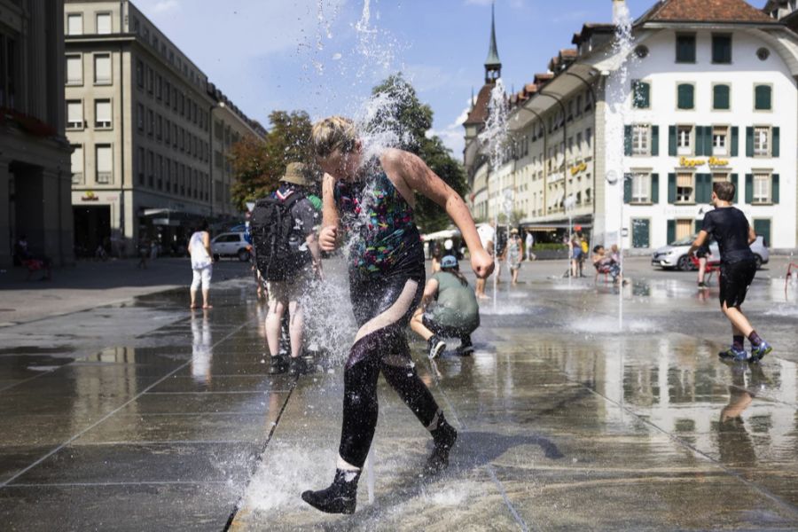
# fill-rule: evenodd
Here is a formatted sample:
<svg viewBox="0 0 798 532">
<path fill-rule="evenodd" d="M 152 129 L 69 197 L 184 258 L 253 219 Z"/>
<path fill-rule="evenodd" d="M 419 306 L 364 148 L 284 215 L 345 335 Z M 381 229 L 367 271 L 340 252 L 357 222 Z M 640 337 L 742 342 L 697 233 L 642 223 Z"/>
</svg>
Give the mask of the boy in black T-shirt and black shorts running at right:
<svg viewBox="0 0 798 532">
<path fill-rule="evenodd" d="M 754 327 L 742 313 L 740 305 L 746 299 L 748 286 L 754 280 L 756 262 L 750 244 L 756 233 L 748 224 L 746 215 L 732 207 L 734 184 L 722 182 L 713 184 L 712 204 L 715 210 L 704 215 L 704 225 L 698 238 L 692 243 L 688 254 L 708 242 L 710 236 L 717 240 L 721 254 L 720 301 L 721 309 L 732 322 L 732 347 L 719 353 L 721 358 L 748 360 L 743 341 L 751 340 L 751 360 L 762 360 L 771 352 L 771 344 L 759 337 Z"/>
</svg>

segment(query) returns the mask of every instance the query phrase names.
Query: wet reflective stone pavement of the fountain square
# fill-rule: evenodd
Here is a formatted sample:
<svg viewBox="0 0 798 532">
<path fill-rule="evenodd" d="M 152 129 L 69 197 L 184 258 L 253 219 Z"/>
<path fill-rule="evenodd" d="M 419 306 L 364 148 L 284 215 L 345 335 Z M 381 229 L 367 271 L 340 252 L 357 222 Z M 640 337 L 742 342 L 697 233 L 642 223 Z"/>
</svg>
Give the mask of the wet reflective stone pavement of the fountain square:
<svg viewBox="0 0 798 532">
<path fill-rule="evenodd" d="M 357 512 L 301 502 L 332 480 L 340 276 L 309 317 L 314 372 L 271 377 L 252 281 L 0 329 L 0 522 L 9 530 L 672 530 L 798 528 L 798 293 L 758 278 L 747 313 L 776 346 L 726 365 L 716 287 L 691 276 L 498 286 L 476 351 L 422 379 L 460 431 L 450 468 L 380 379 Z M 455 346 L 451 346 L 455 347 Z"/>
</svg>

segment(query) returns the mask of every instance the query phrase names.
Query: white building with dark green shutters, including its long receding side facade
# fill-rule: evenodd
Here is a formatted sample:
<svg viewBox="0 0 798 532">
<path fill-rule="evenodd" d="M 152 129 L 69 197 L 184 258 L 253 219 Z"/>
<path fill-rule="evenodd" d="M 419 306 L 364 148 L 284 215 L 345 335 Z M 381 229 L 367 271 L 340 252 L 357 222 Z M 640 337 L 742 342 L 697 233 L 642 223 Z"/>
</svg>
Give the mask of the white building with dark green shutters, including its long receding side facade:
<svg viewBox="0 0 798 532">
<path fill-rule="evenodd" d="M 726 179 L 768 245 L 794 248 L 798 35 L 743 0 L 655 4 L 634 23 L 622 128 L 610 133 L 622 65 L 613 36 L 614 26 L 586 24 L 576 50 L 509 98 L 505 181 L 525 213 L 520 225 L 562 232 L 571 215 L 605 244 L 622 226 L 623 246 L 647 253 L 700 227 L 712 182 Z M 466 134 L 469 176 L 489 191 L 505 172 L 478 153 Z M 477 184 L 472 207 L 492 215 Z"/>
</svg>

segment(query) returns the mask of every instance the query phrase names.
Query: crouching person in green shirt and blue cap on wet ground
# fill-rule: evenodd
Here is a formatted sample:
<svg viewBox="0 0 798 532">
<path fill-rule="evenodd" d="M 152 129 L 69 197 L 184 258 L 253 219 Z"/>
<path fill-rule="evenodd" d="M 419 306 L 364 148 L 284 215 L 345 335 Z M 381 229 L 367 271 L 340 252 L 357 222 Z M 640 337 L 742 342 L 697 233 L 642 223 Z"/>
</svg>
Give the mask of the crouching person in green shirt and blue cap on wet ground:
<svg viewBox="0 0 798 532">
<path fill-rule="evenodd" d="M 454 255 L 441 260 L 441 271 L 426 281 L 421 305 L 411 319 L 411 329 L 426 340 L 430 359 L 446 349 L 444 338 L 458 338 L 457 353 L 473 353 L 471 334 L 480 326 L 480 305 Z"/>
</svg>

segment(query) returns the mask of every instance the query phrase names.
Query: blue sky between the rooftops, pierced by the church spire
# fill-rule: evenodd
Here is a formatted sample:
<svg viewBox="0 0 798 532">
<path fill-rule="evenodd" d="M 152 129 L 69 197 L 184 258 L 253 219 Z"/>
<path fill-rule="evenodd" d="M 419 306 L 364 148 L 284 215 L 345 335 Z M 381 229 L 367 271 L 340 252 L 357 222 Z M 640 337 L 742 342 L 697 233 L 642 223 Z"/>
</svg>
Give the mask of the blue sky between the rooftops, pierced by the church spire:
<svg viewBox="0 0 798 532">
<path fill-rule="evenodd" d="M 628 0 L 637 17 L 655 0 Z M 352 114 L 403 72 L 434 110 L 457 157 L 458 117 L 484 80 L 491 0 L 134 0 L 247 115 Z M 760 2 L 759 4 L 763 4 Z M 756 4 L 757 7 L 761 5 Z M 502 77 L 532 80 L 584 22 L 610 22 L 611 0 L 497 0 Z"/>
</svg>

